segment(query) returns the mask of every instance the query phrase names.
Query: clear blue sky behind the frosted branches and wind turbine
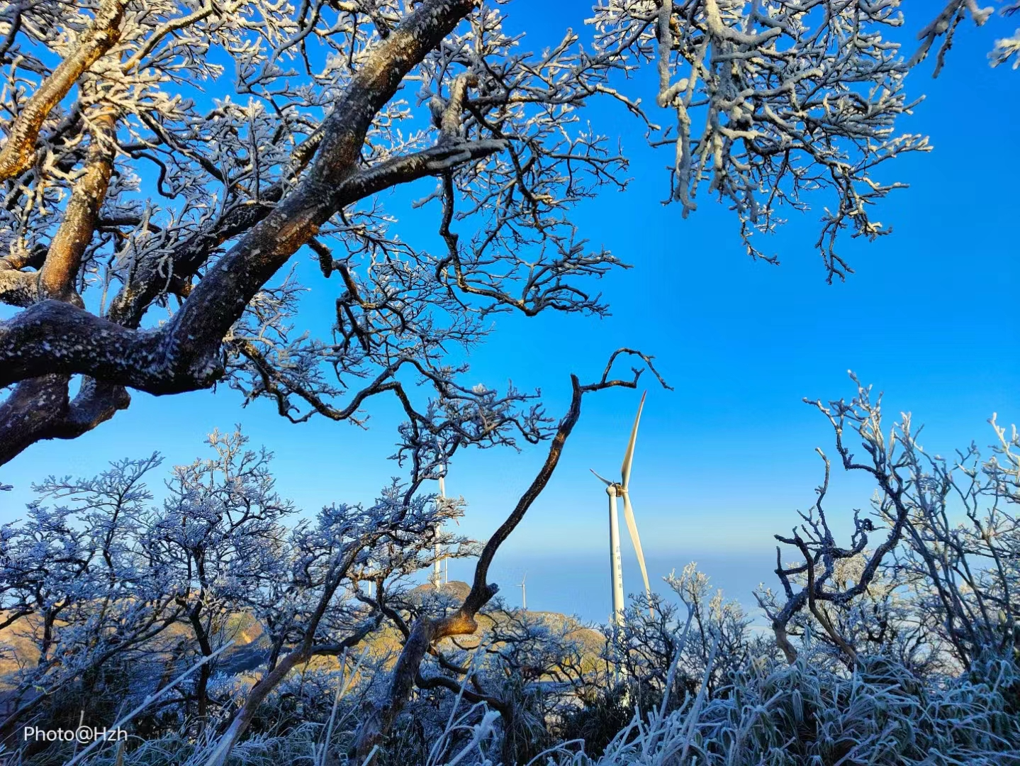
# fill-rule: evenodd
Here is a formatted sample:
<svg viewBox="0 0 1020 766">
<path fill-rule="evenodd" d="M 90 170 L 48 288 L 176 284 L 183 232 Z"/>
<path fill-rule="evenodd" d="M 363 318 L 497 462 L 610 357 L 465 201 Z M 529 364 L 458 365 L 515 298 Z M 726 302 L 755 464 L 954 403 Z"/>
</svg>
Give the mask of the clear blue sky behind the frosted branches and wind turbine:
<svg viewBox="0 0 1020 766">
<path fill-rule="evenodd" d="M 921 4 L 910 5 L 917 11 Z M 538 17 L 520 13 L 532 6 L 515 0 L 509 9 L 523 23 Z M 590 6 L 591 0 L 544 3 L 543 11 L 552 8 L 557 17 L 534 32 L 547 40 L 563 27 L 578 28 Z M 875 243 L 843 242 L 857 271 L 843 284 L 825 284 L 813 249 L 817 212 L 792 214 L 768 243 L 781 265 L 752 262 L 722 205 L 703 202 L 681 220 L 678 208 L 659 203 L 667 157 L 644 145 L 635 122 L 616 109 L 591 109 L 603 132 L 624 131 L 635 181 L 624 193 L 607 192 L 584 205 L 576 221 L 594 245 L 634 268 L 603 280 L 612 305 L 604 320 L 500 317 L 491 342 L 472 352 L 471 377 L 541 387 L 550 412 L 559 415 L 570 372 L 596 376 L 621 346 L 656 356 L 675 391 L 648 380 L 631 488 L 653 578 L 696 559 L 742 601 L 759 580 L 773 582 L 771 535 L 788 530 L 795 510 L 813 502 L 821 477 L 814 448 L 832 452 L 829 426 L 801 399 L 849 398 L 848 369 L 886 393 L 890 418 L 906 409 L 926 423 L 922 442 L 930 451 L 950 452 L 971 440 L 989 444 L 992 412 L 1001 422 L 1020 421 L 1020 72 L 986 63 L 992 38 L 1005 29 L 996 21 L 961 29 L 938 80 L 930 79 L 930 65 L 911 75 L 912 92 L 927 99 L 902 127 L 929 135 L 934 149 L 879 171 L 883 181 L 911 188 L 890 196 L 876 216 L 894 234 Z M 413 191 L 428 188 L 426 181 Z M 393 202 L 403 212 L 404 199 Z M 407 220 L 402 237 L 431 246 L 435 221 Z M 309 260 L 305 252 L 299 257 Z M 338 286 L 316 278 L 307 263 L 301 273 L 311 289 L 307 324 L 325 333 Z M 509 578 L 546 571 L 547 577 L 528 576 L 529 605 L 608 613 L 608 572 L 599 569 L 607 548 L 605 494 L 589 468 L 607 475 L 618 469 L 640 396 L 611 391 L 585 399 L 556 476 L 498 559 L 494 575 L 513 591 L 511 601 L 519 592 Z M 253 444 L 275 453 L 280 491 L 307 512 L 333 501 L 370 501 L 399 473 L 387 460 L 399 419 L 389 404 L 373 406 L 367 431 L 322 419 L 292 425 L 268 402 L 239 405 L 225 389 L 160 399 L 136 393 L 113 421 L 73 442 L 37 445 L 0 468 L 0 480 L 14 484 L 0 497 L 0 521 L 19 516 L 30 482 L 48 473 L 88 474 L 111 459 L 153 450 L 171 462 L 188 461 L 201 453 L 206 432 L 236 422 Z M 544 455 L 544 446 L 521 454 L 462 453 L 447 484 L 468 503 L 462 531 L 484 539 Z M 866 481 L 835 475 L 830 514 L 840 509 L 849 516 L 870 494 Z M 552 574 L 567 566 L 564 557 L 585 563 L 569 565 L 574 576 L 557 583 Z M 624 568 L 627 589 L 634 590 L 640 576 L 626 541 Z M 456 576 L 458 567 L 452 571 Z"/>
</svg>

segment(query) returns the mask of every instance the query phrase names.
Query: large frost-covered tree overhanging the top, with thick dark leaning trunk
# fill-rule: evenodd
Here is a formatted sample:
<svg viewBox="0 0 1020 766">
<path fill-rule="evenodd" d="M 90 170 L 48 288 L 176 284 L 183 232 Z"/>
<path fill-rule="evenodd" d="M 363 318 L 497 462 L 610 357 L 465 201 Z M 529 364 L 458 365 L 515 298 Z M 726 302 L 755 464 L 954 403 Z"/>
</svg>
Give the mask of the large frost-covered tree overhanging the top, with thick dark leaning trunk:
<svg viewBox="0 0 1020 766">
<path fill-rule="evenodd" d="M 396 397 L 401 454 L 432 475 L 458 446 L 550 437 L 533 395 L 463 360 L 495 314 L 608 309 L 596 280 L 624 264 L 573 210 L 625 186 L 627 157 L 581 107 L 667 147 L 664 198 L 718 197 L 756 257 L 784 210 L 823 209 L 842 277 L 836 235 L 887 232 L 886 160 L 927 149 L 898 129 L 900 5 L 604 0 L 534 52 L 502 0 L 6 4 L 0 461 L 96 427 L 130 389 L 217 381 L 298 421 L 363 424 Z M 925 46 L 966 12 L 987 17 L 955 0 Z M 384 205 L 411 185 L 420 212 Z M 312 282 L 335 296 L 324 326 L 302 316 Z"/>
</svg>

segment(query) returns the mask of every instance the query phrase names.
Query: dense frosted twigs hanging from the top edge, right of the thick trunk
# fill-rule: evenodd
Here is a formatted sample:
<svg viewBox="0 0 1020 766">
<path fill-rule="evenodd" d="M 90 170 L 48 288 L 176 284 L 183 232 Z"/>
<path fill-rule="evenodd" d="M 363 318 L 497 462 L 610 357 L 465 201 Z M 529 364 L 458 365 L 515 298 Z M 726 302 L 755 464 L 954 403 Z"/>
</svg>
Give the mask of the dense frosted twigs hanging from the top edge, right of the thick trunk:
<svg viewBox="0 0 1020 766">
<path fill-rule="evenodd" d="M 657 105 L 674 113 L 652 137 L 674 151 L 667 199 L 685 216 L 700 191 L 718 195 L 749 254 L 775 261 L 754 236 L 823 193 L 817 247 L 831 280 L 853 270 L 835 250 L 839 232 L 889 231 L 870 208 L 901 185 L 880 182 L 879 166 L 928 148 L 896 132 L 915 103 L 909 67 L 884 38 L 902 23 L 898 5 L 611 0 L 595 22 L 603 45 L 656 62 Z"/>
</svg>

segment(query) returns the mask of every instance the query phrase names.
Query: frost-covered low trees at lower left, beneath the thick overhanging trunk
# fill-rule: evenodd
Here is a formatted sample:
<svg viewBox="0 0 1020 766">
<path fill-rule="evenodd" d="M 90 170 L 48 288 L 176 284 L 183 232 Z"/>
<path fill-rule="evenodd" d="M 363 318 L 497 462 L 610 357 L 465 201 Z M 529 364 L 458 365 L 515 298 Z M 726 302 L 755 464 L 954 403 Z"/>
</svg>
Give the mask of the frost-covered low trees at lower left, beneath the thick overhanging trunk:
<svg viewBox="0 0 1020 766">
<path fill-rule="evenodd" d="M 246 441 L 211 435 L 213 457 L 174 468 L 161 506 L 146 486 L 156 455 L 35 486 L 40 499 L 3 527 L 0 549 L 0 627 L 16 662 L 5 732 L 43 711 L 59 723 L 72 704 L 108 713 L 196 661 L 148 725 L 221 716 L 237 690 L 217 673 L 344 653 L 379 625 L 402 579 L 431 565 L 437 525 L 460 514 L 395 481 L 369 507 L 287 523 L 295 509 L 274 490 L 271 455 Z M 470 552 L 462 538 L 440 540 L 447 555 Z M 223 654 L 239 640 L 243 651 Z"/>
</svg>

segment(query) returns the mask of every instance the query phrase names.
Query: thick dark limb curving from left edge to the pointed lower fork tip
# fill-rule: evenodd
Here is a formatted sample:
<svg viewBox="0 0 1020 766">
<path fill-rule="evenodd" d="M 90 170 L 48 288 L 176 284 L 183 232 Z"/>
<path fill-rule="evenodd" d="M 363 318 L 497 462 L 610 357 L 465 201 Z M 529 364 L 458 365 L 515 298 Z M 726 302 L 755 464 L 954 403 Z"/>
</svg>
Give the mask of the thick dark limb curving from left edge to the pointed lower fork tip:
<svg viewBox="0 0 1020 766">
<path fill-rule="evenodd" d="M 231 249 L 160 330 L 132 329 L 56 301 L 31 306 L 0 322 L 0 387 L 60 372 L 150 394 L 208 388 L 221 374 L 220 345 L 231 326 L 330 211 L 502 146 L 498 141 L 444 145 L 353 173 L 318 199 L 312 186 L 299 190 Z"/>
</svg>

